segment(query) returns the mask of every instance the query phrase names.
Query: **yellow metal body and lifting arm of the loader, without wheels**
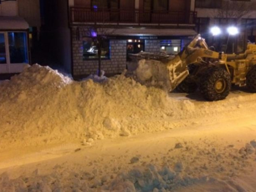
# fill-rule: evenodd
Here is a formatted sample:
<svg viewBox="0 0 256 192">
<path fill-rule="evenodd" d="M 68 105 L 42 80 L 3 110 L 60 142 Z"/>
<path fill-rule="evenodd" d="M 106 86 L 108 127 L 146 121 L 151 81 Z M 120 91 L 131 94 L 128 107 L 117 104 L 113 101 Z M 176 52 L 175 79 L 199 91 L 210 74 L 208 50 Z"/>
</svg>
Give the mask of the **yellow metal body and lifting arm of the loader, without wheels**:
<svg viewBox="0 0 256 192">
<path fill-rule="evenodd" d="M 246 85 L 246 75 L 252 66 L 256 65 L 256 45 L 248 44 L 242 54 L 218 53 L 208 49 L 200 35 L 197 35 L 184 50 L 167 63 L 171 90 L 174 90 L 188 75 L 188 65 L 207 63 L 206 59 L 215 59 L 212 63 L 225 68 L 230 74 L 231 83 Z"/>
</svg>

